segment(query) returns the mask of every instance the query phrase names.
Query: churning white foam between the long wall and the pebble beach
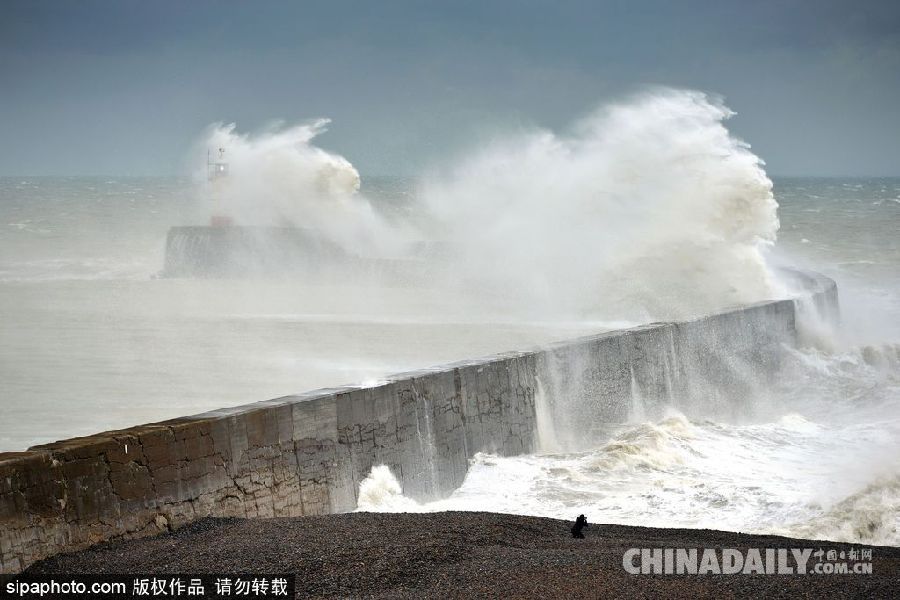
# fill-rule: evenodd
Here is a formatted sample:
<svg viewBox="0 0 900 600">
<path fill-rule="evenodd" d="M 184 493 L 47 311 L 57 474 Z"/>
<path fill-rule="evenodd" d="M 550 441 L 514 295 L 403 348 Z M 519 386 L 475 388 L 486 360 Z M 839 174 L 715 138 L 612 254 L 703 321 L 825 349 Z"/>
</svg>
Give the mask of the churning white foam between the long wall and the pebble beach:
<svg viewBox="0 0 900 600">
<path fill-rule="evenodd" d="M 669 409 L 581 452 L 479 453 L 449 497 L 415 504 L 392 496 L 379 505 L 562 519 L 583 513 L 592 522 L 900 545 L 900 399 L 891 391 L 900 373 L 882 358 L 869 364 L 866 353 L 808 351 L 809 360 L 786 372 L 805 384 L 803 393 L 771 390 L 778 395 L 771 414 L 756 422 L 689 419 Z M 846 393 L 861 384 L 869 386 L 865 398 Z"/>
</svg>

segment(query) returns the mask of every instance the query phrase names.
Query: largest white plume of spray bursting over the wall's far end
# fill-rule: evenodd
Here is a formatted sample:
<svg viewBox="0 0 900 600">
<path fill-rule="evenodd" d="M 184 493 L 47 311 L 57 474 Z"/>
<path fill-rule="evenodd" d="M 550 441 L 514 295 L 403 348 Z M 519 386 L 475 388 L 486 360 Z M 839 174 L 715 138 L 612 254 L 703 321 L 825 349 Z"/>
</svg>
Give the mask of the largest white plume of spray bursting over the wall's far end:
<svg viewBox="0 0 900 600">
<path fill-rule="evenodd" d="M 661 90 L 473 151 L 422 190 L 455 278 L 510 310 L 639 322 L 772 296 L 777 203 L 732 114 Z"/>
</svg>

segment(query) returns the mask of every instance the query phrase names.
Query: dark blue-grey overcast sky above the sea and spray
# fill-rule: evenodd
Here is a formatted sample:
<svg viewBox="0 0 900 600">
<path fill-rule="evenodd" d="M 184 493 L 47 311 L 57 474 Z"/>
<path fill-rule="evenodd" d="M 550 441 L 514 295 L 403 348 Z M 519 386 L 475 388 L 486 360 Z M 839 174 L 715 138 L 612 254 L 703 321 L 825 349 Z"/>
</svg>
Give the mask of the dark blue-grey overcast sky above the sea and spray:
<svg viewBox="0 0 900 600">
<path fill-rule="evenodd" d="M 0 2 L 0 175 L 173 174 L 214 121 L 333 119 L 363 174 L 715 92 L 773 174 L 900 174 L 900 1 Z"/>
</svg>

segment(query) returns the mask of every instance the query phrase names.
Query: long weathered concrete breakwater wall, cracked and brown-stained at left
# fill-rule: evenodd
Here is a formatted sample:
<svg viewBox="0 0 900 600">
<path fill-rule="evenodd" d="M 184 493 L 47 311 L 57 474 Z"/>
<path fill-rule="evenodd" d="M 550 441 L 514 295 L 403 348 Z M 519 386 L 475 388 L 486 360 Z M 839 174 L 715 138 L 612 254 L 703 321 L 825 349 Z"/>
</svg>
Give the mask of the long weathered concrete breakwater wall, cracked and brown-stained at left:
<svg viewBox="0 0 900 600">
<path fill-rule="evenodd" d="M 833 282 L 822 282 L 815 301 L 836 305 Z M 580 403 L 568 424 L 576 432 L 622 420 L 636 386 L 648 407 L 677 402 L 692 372 L 704 374 L 711 402 L 740 397 L 743 369 L 775 369 L 794 341 L 796 306 L 762 303 L 0 454 L 0 572 L 208 515 L 349 511 L 376 464 L 413 498 L 446 495 L 476 452 L 535 449 L 538 389 L 557 413 Z"/>
</svg>

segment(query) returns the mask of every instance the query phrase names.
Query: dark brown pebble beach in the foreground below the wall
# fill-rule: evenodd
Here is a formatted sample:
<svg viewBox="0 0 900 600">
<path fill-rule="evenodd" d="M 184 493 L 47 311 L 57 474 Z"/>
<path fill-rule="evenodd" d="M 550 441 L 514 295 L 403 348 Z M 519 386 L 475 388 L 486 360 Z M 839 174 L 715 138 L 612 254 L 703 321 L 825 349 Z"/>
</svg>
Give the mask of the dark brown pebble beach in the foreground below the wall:
<svg viewBox="0 0 900 600">
<path fill-rule="evenodd" d="M 574 516 L 574 515 L 573 515 Z M 588 515 L 590 520 L 590 515 Z M 116 541 L 26 573 L 296 573 L 297 597 L 890 598 L 900 548 L 712 530 L 594 525 L 496 513 L 353 513 L 203 519 Z M 872 575 L 631 575 L 629 548 L 873 548 Z M 810 559 L 810 565 L 815 558 Z"/>
</svg>

